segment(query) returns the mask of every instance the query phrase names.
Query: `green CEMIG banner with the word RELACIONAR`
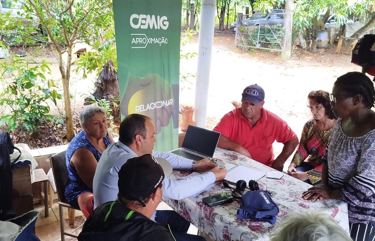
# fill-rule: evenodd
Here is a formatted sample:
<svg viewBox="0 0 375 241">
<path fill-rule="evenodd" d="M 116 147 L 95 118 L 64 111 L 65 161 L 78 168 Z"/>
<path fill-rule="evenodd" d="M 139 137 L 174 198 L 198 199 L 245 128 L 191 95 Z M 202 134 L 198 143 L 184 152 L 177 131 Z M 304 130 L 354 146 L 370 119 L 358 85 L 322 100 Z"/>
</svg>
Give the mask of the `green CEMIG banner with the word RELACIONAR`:
<svg viewBox="0 0 375 241">
<path fill-rule="evenodd" d="M 121 117 L 155 125 L 154 151 L 178 145 L 181 1 L 113 0 Z"/>
</svg>

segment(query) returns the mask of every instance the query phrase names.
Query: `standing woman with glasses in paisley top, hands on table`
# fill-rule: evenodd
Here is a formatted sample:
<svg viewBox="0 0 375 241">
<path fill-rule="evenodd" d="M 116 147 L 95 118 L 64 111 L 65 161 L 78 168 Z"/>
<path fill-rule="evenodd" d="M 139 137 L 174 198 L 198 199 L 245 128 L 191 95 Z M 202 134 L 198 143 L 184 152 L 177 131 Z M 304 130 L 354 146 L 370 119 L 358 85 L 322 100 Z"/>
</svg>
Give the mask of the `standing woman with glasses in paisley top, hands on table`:
<svg viewBox="0 0 375 241">
<path fill-rule="evenodd" d="M 322 184 L 305 199 L 348 202 L 350 235 L 375 240 L 375 89 L 360 72 L 339 77 L 332 89 L 333 113 L 339 117 L 323 157 Z"/>
</svg>

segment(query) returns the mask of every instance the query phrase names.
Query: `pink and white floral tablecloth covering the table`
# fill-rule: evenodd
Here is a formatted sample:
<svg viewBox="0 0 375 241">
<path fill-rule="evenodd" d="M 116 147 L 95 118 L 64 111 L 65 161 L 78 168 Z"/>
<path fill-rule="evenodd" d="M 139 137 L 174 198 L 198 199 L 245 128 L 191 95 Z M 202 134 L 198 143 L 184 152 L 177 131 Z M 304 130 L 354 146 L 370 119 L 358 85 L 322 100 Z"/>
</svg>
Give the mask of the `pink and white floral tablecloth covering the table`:
<svg viewBox="0 0 375 241">
<path fill-rule="evenodd" d="M 257 161 L 247 158 L 234 151 L 216 148 L 214 157 L 220 158 L 228 163 L 242 164 L 255 170 L 275 171 Z M 174 172 L 171 178 L 181 178 L 189 175 L 188 171 Z M 284 175 L 281 179 L 268 179 L 263 177 L 261 182 L 267 185 L 267 189 L 273 193 L 272 199 L 278 204 L 280 212 L 276 216 L 276 224 L 285 220 L 292 212 L 304 212 L 307 210 L 318 210 L 331 215 L 345 230 L 349 230 L 348 206 L 341 200 L 323 200 L 315 203 L 301 197 L 311 185 L 296 178 Z M 265 189 L 259 183 L 261 189 Z M 222 193 L 219 185 L 214 185 L 198 196 L 191 196 L 181 200 L 163 199 L 182 217 L 189 220 L 203 233 L 214 240 L 237 241 L 237 240 L 269 240 L 273 225 L 267 222 L 241 220 L 236 217 L 240 208 L 240 201 L 226 203 L 214 207 L 208 207 L 202 202 L 203 197 Z"/>
</svg>

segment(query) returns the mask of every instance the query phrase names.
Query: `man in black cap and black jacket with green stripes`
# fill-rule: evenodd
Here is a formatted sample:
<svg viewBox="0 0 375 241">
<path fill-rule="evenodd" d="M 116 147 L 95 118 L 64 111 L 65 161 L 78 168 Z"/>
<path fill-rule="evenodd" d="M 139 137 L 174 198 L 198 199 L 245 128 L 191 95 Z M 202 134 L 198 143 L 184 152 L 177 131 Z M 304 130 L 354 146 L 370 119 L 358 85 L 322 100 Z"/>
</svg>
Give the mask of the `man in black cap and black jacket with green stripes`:
<svg viewBox="0 0 375 241">
<path fill-rule="evenodd" d="M 78 240 L 204 241 L 201 236 L 172 233 L 168 224 L 150 220 L 162 198 L 164 178 L 151 154 L 127 160 L 118 172 L 118 199 L 93 211 Z"/>
</svg>

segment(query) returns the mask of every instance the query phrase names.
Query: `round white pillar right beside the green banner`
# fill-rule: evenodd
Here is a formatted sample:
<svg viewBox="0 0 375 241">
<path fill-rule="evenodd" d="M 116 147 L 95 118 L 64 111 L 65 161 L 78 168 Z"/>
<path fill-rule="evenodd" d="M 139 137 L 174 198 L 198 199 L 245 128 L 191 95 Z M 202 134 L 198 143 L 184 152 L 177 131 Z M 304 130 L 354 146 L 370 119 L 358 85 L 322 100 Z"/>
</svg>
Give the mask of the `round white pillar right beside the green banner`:
<svg viewBox="0 0 375 241">
<path fill-rule="evenodd" d="M 198 66 L 196 69 L 194 121 L 206 127 L 208 86 L 210 82 L 211 53 L 215 27 L 216 0 L 202 0 L 199 24 Z"/>
</svg>

